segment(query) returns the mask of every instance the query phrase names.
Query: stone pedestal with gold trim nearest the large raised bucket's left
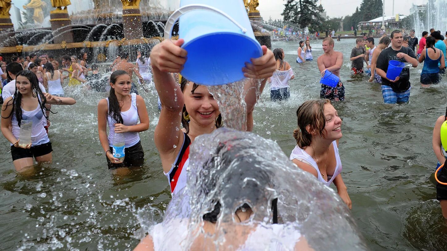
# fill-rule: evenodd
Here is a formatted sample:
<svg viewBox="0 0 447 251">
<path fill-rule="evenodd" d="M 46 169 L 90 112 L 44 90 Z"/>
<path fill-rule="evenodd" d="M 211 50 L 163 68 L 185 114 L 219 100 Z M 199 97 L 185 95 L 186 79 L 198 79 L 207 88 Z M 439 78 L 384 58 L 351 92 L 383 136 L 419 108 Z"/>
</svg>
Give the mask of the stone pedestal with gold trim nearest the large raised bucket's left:
<svg viewBox="0 0 447 251">
<path fill-rule="evenodd" d="M 143 24 L 138 6 L 124 6 L 122 8 L 122 25 L 124 37 L 127 40 L 143 38 Z"/>
</svg>

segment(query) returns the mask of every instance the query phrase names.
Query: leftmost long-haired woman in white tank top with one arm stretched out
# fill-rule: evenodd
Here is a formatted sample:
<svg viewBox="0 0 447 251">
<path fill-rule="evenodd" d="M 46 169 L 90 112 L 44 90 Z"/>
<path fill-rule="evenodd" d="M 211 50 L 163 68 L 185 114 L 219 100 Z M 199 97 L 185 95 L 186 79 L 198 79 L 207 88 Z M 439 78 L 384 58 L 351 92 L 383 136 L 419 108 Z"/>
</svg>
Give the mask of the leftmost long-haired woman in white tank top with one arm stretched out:
<svg viewBox="0 0 447 251">
<path fill-rule="evenodd" d="M 11 143 L 11 155 L 18 172 L 37 162 L 51 163 L 51 142 L 44 128 L 48 117 L 45 105 L 74 105 L 76 100 L 43 93 L 32 71 L 21 71 L 16 76 L 16 92 L 3 103 L 1 110 L 1 132 Z M 21 144 L 19 135 L 23 121 L 32 121 L 31 143 Z M 9 125 L 12 125 L 12 131 Z"/>
</svg>

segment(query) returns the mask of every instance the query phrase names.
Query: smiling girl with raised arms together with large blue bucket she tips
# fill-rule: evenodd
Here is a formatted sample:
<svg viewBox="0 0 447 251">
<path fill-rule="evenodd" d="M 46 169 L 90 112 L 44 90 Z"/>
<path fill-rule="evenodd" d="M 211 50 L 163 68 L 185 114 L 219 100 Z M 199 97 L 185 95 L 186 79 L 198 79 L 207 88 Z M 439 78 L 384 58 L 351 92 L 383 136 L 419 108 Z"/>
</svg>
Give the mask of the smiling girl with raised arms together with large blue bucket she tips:
<svg viewBox="0 0 447 251">
<path fill-rule="evenodd" d="M 228 84 L 245 77 L 263 79 L 262 92 L 276 64 L 273 53 L 254 38 L 243 1 L 182 0 L 167 21 L 165 38 L 169 38 L 179 17 L 180 39 L 165 39 L 154 46 L 150 56 L 161 101 L 154 141 L 173 196 L 186 185 L 190 144 L 197 136 L 223 125 L 219 106 L 207 85 Z M 181 73 L 180 86 L 170 73 Z M 249 81 L 247 88 L 253 82 L 257 81 Z M 256 91 L 249 88 L 245 96 L 247 130 L 253 128 L 249 114 L 258 98 Z"/>
</svg>

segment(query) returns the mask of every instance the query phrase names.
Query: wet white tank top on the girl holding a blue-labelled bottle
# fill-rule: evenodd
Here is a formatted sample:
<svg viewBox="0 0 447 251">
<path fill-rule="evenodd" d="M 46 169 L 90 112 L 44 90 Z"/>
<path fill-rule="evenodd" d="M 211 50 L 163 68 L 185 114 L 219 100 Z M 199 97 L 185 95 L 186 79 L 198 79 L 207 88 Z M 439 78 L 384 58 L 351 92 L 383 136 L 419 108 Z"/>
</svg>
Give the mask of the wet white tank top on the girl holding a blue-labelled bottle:
<svg viewBox="0 0 447 251">
<path fill-rule="evenodd" d="M 121 117 L 124 126 L 135 126 L 138 124 L 138 109 L 137 109 L 137 95 L 135 93 L 131 94 L 131 108 L 129 108 L 125 112 L 121 112 Z M 109 98 L 105 98 L 107 100 L 107 113 L 109 112 Z M 107 123 L 109 124 L 109 146 L 113 145 L 113 137 L 115 135 L 115 126 L 117 122 L 113 120 L 112 117 L 107 116 Z M 135 146 L 136 143 L 140 141 L 138 133 L 135 132 L 127 132 L 124 134 L 124 142 L 125 147 Z"/>
</svg>

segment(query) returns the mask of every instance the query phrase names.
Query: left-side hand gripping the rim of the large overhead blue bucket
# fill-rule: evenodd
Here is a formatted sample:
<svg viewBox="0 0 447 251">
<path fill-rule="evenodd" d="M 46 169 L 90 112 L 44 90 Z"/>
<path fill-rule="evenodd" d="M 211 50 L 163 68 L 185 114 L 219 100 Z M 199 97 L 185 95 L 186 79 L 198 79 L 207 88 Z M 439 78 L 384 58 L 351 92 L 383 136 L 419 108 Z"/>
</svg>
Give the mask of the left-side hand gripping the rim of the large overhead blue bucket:
<svg viewBox="0 0 447 251">
<path fill-rule="evenodd" d="M 177 41 L 166 39 L 154 46 L 151 52 L 152 68 L 163 72 L 180 72 L 188 54 L 185 49 L 180 47 L 184 42 L 183 39 Z"/>
</svg>

